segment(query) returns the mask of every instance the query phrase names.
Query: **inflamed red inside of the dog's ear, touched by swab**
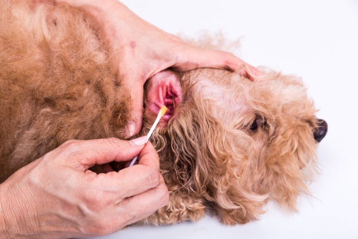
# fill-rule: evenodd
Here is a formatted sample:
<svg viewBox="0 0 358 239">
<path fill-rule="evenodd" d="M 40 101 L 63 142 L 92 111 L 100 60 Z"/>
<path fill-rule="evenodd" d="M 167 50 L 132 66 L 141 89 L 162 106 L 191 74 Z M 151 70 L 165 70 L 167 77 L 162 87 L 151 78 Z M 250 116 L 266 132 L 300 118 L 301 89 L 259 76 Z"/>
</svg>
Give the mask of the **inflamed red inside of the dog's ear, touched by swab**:
<svg viewBox="0 0 358 239">
<path fill-rule="evenodd" d="M 183 89 L 177 73 L 165 70 L 151 77 L 145 85 L 145 115 L 155 120 L 162 106 L 167 112 L 162 117 L 160 127 L 167 125 L 175 116 L 175 108 L 183 101 Z"/>
</svg>

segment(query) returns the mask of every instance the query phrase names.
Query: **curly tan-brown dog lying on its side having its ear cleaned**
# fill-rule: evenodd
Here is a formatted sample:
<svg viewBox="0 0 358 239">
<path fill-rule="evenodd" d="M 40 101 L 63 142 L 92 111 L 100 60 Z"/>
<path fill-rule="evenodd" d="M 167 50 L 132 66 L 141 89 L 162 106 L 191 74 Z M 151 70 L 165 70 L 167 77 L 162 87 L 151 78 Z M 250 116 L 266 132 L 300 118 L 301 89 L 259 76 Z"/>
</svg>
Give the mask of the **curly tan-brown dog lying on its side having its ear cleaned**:
<svg viewBox="0 0 358 239">
<path fill-rule="evenodd" d="M 88 19 L 64 5 L 1 4 L 0 182 L 67 140 L 124 139 L 129 91 Z M 151 142 L 170 199 L 139 224 L 197 221 L 207 211 L 247 223 L 269 200 L 296 210 L 327 123 L 300 78 L 261 70 L 254 80 L 215 69 L 148 80 L 139 135 L 166 105 Z"/>
</svg>

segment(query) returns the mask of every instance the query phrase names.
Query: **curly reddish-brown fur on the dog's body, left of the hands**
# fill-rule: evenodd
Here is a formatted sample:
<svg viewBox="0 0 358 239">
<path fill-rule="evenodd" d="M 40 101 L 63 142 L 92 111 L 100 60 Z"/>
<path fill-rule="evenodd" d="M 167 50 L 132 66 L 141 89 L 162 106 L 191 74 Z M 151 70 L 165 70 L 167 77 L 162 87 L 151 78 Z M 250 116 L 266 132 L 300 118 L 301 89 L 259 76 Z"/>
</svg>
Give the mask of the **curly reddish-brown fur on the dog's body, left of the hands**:
<svg viewBox="0 0 358 239">
<path fill-rule="evenodd" d="M 82 15 L 1 4 L 1 181 L 66 140 L 123 138 L 128 94 Z"/>
</svg>

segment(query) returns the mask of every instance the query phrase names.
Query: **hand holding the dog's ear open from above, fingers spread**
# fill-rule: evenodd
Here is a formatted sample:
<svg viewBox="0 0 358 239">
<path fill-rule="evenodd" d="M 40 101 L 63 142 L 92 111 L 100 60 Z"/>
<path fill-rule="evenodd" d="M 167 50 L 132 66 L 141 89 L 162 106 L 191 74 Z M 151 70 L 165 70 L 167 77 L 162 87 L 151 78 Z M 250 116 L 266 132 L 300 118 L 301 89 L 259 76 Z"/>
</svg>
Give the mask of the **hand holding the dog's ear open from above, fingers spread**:
<svg viewBox="0 0 358 239">
<path fill-rule="evenodd" d="M 220 68 L 241 75 L 260 75 L 259 70 L 234 55 L 187 45 L 180 38 L 147 23 L 117 0 L 56 0 L 78 7 L 92 18 L 110 53 L 121 82 L 131 96 L 128 136 L 142 127 L 143 85 L 147 79 L 167 68 L 189 71 Z"/>
</svg>

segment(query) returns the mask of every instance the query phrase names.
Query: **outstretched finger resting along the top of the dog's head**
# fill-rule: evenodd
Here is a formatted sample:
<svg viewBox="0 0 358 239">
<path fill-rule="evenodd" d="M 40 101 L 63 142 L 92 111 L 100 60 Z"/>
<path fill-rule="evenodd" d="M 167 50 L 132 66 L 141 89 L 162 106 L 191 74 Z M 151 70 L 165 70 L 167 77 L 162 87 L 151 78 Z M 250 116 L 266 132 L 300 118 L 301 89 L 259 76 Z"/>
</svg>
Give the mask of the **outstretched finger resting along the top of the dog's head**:
<svg viewBox="0 0 358 239">
<path fill-rule="evenodd" d="M 228 52 L 187 46 L 180 52 L 178 61 L 172 67 L 177 71 L 190 71 L 196 68 L 217 68 L 238 72 L 238 74 L 243 76 L 260 76 L 262 74 L 257 68 L 250 66 L 250 64 Z"/>
</svg>

